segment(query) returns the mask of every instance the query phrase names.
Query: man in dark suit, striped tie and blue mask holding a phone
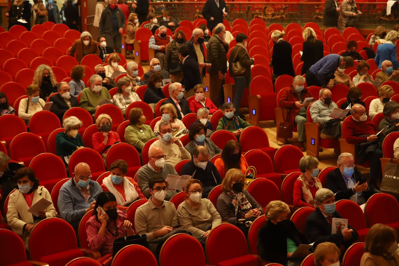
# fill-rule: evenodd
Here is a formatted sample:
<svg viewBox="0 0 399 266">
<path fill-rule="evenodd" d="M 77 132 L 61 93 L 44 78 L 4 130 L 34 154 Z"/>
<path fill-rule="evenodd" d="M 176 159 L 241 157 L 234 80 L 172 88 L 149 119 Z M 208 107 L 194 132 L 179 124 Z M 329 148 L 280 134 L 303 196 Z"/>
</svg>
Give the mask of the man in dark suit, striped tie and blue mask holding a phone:
<svg viewBox="0 0 399 266">
<path fill-rule="evenodd" d="M 349 199 L 362 205 L 374 194 L 367 182 L 361 184 L 361 173 L 354 169 L 353 155 L 347 152 L 338 156 L 338 168 L 327 175 L 327 188 L 335 193 L 335 199 Z"/>
</svg>

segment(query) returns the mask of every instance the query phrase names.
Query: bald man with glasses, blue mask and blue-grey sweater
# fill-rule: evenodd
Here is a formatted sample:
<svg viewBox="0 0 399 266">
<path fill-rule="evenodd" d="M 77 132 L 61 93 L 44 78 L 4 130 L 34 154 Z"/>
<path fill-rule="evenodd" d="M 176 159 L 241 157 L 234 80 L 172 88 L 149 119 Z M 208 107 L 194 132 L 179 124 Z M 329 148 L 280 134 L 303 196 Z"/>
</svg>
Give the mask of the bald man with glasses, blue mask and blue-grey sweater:
<svg viewBox="0 0 399 266">
<path fill-rule="evenodd" d="M 103 189 L 100 184 L 91 180 L 90 166 L 77 164 L 73 177 L 62 185 L 58 196 L 59 213 L 75 232 L 83 215 L 94 209 L 95 200 L 101 192 Z"/>
</svg>

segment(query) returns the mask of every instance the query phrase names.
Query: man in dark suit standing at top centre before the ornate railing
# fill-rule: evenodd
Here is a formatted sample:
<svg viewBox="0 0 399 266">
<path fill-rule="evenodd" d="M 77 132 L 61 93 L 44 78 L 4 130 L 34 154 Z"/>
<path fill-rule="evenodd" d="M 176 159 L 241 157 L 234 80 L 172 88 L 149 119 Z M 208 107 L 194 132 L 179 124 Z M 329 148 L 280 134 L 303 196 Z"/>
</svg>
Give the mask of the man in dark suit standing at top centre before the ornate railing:
<svg viewBox="0 0 399 266">
<path fill-rule="evenodd" d="M 223 18 L 228 16 L 226 2 L 224 0 L 207 0 L 201 14 L 207 21 L 209 32 L 212 32 L 213 28 L 217 24 L 223 23 Z"/>
</svg>

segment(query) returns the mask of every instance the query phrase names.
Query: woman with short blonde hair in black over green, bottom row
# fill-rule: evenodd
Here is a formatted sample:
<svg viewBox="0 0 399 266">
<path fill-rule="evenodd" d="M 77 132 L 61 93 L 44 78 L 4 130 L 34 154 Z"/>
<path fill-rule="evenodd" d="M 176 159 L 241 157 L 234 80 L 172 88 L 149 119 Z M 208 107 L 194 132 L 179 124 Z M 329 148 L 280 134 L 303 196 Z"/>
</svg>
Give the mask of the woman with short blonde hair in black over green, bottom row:
<svg viewBox="0 0 399 266">
<path fill-rule="evenodd" d="M 266 224 L 258 231 L 257 247 L 261 258 L 283 265 L 300 265 L 310 251 L 301 252 L 301 256 L 296 258 L 290 257 L 300 244 L 309 244 L 310 241 L 288 219 L 288 205 L 282 201 L 271 201 L 266 206 L 265 214 Z"/>
</svg>

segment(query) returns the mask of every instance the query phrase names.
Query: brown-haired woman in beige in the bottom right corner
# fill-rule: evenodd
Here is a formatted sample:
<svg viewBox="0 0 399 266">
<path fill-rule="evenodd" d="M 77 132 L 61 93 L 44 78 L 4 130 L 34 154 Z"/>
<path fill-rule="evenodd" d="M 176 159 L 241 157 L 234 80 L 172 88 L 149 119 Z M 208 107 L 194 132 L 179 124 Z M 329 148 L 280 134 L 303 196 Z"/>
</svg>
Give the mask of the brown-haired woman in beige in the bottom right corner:
<svg viewBox="0 0 399 266">
<path fill-rule="evenodd" d="M 360 266 L 399 266 L 395 229 L 381 223 L 370 228 Z"/>
</svg>

